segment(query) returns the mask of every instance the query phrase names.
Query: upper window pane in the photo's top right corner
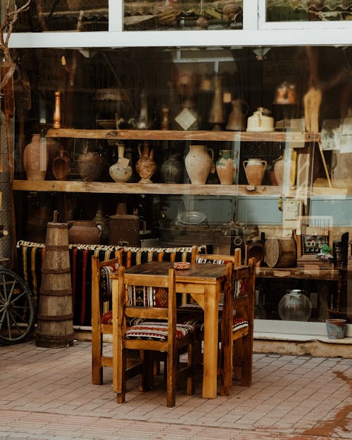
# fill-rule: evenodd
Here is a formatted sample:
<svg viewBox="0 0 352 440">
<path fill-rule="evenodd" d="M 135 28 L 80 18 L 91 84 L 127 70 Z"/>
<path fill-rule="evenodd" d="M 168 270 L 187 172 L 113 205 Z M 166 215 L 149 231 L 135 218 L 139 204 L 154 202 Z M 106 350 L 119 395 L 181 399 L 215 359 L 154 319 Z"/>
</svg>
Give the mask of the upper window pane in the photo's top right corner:
<svg viewBox="0 0 352 440">
<path fill-rule="evenodd" d="M 352 19 L 351 0 L 266 0 L 266 21 Z"/>
</svg>

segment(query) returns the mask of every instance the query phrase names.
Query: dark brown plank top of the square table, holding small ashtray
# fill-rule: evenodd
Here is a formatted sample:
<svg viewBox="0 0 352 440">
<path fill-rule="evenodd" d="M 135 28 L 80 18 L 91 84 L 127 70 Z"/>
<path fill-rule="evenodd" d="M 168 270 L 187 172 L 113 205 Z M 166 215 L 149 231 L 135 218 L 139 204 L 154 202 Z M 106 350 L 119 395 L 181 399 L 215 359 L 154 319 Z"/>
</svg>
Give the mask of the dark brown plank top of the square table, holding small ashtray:
<svg viewBox="0 0 352 440">
<path fill-rule="evenodd" d="M 149 261 L 134 265 L 126 269 L 126 273 L 138 275 L 165 275 L 168 269 L 173 268 L 173 263 L 168 261 Z M 191 263 L 189 269 L 175 270 L 176 282 L 222 282 L 225 278 L 226 265 L 224 264 L 196 264 Z M 113 272 L 111 278 L 117 278 L 118 273 Z"/>
</svg>

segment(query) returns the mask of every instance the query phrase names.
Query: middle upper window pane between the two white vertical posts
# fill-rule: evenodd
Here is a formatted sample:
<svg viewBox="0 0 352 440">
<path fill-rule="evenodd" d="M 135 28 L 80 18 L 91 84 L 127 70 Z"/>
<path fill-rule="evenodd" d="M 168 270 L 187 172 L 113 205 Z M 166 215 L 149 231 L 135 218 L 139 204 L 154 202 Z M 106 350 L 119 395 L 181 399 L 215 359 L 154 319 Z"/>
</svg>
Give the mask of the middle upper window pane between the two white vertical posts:
<svg viewBox="0 0 352 440">
<path fill-rule="evenodd" d="M 242 28 L 242 0 L 124 0 L 124 30 Z"/>
</svg>

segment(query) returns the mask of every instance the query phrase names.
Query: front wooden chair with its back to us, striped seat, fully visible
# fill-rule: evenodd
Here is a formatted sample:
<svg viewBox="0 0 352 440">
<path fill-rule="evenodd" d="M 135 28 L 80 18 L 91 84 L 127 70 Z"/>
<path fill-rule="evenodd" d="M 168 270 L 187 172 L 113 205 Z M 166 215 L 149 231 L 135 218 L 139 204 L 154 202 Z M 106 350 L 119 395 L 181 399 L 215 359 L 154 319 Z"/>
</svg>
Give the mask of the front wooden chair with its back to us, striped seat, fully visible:
<svg viewBox="0 0 352 440">
<path fill-rule="evenodd" d="M 144 321 L 134 322 L 140 318 Z M 146 384 L 152 377 L 148 354 L 151 351 L 167 353 L 168 407 L 175 406 L 176 374 L 187 375 L 187 394 L 193 393 L 196 327 L 176 322 L 174 269 L 170 269 L 168 275 L 132 275 L 120 266 L 118 289 L 113 289 L 113 327 L 113 389 L 118 403 L 125 401 L 129 349 L 143 353 L 143 389 L 148 388 Z M 187 347 L 187 365 L 180 367 L 179 355 L 184 347 Z"/>
</svg>

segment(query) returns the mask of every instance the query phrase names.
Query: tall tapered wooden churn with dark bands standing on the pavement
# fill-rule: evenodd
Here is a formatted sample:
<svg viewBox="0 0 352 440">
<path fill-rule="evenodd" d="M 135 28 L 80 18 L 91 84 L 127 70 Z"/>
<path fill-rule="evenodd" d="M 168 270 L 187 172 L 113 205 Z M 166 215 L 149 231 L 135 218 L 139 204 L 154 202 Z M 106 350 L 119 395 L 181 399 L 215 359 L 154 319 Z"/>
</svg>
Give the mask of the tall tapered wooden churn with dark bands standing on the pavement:
<svg viewBox="0 0 352 440">
<path fill-rule="evenodd" d="M 49 222 L 46 228 L 37 315 L 36 345 L 73 345 L 73 298 L 68 252 L 68 225 Z"/>
</svg>

